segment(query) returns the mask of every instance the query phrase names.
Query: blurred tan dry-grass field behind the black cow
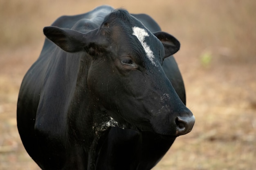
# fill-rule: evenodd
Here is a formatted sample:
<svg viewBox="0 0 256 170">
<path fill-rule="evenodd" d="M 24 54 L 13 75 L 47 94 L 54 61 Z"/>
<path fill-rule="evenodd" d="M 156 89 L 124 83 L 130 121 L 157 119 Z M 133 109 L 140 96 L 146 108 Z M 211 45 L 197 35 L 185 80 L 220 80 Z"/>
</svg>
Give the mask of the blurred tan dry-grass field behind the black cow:
<svg viewBox="0 0 256 170">
<path fill-rule="evenodd" d="M 20 141 L 16 102 L 43 27 L 102 4 L 147 13 L 181 43 L 175 59 L 196 122 L 154 170 L 255 169 L 256 1 L 0 0 L 0 170 L 39 170 Z"/>
</svg>

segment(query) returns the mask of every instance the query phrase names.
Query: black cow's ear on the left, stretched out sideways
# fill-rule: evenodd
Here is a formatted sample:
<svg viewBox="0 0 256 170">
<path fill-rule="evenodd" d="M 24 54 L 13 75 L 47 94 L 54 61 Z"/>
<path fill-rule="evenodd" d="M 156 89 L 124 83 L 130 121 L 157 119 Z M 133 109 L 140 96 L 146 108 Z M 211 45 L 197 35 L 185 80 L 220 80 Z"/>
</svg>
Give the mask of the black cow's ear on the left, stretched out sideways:
<svg viewBox="0 0 256 170">
<path fill-rule="evenodd" d="M 82 51 L 85 43 L 83 33 L 71 29 L 61 29 L 56 26 L 47 26 L 43 29 L 45 36 L 61 47 L 64 51 L 74 53 Z"/>
</svg>

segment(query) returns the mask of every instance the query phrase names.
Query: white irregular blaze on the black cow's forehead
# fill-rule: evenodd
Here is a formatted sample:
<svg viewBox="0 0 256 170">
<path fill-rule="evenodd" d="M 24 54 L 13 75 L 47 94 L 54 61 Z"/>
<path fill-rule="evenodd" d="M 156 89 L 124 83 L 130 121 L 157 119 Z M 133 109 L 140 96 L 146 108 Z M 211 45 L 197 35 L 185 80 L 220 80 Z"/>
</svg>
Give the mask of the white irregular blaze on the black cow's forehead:
<svg viewBox="0 0 256 170">
<path fill-rule="evenodd" d="M 157 64 L 154 61 L 155 56 L 153 54 L 153 51 L 150 49 L 150 46 L 148 46 L 148 44 L 146 42 L 144 42 L 145 38 L 149 37 L 148 32 L 145 29 L 141 29 L 137 26 L 134 26 L 132 28 L 132 30 L 133 30 L 132 35 L 135 35 L 138 38 L 138 40 L 141 43 L 141 45 L 143 46 L 144 51 L 146 52 L 146 55 L 147 55 L 148 59 L 150 60 L 150 62 L 154 66 L 157 66 Z"/>
</svg>

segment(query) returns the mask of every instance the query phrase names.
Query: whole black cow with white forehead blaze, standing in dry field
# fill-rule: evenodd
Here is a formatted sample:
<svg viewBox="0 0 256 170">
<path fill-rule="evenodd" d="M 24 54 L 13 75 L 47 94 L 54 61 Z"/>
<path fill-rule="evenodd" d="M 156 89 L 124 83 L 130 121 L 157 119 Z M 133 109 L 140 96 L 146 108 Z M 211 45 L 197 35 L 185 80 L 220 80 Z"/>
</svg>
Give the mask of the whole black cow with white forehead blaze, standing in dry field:
<svg viewBox="0 0 256 170">
<path fill-rule="evenodd" d="M 17 104 L 22 143 L 40 168 L 149 170 L 191 131 L 171 56 L 180 43 L 148 15 L 101 6 L 43 31 Z"/>
</svg>

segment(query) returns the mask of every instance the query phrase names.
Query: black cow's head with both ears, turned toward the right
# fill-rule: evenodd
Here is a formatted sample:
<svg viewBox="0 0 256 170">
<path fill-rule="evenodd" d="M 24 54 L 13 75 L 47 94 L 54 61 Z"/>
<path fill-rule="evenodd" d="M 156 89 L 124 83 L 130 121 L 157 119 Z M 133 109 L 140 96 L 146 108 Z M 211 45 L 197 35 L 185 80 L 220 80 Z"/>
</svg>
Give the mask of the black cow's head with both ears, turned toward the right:
<svg viewBox="0 0 256 170">
<path fill-rule="evenodd" d="M 193 128 L 193 114 L 161 66 L 180 48 L 172 35 L 151 33 L 125 10 L 113 11 L 87 33 L 54 26 L 44 33 L 64 51 L 91 57 L 88 89 L 101 111 L 122 127 L 172 137 Z"/>
</svg>

